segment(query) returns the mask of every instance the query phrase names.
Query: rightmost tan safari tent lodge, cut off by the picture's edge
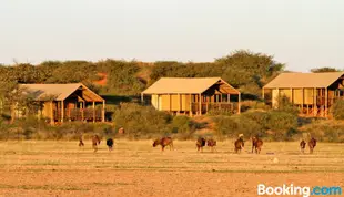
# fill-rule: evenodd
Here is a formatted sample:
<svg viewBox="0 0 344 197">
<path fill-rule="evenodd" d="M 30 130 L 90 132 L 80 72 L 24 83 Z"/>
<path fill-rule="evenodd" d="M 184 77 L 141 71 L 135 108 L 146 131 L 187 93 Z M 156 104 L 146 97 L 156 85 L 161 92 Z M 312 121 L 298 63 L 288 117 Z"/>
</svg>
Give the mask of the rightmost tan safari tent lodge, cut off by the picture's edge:
<svg viewBox="0 0 344 197">
<path fill-rule="evenodd" d="M 263 87 L 266 103 L 277 108 L 285 96 L 307 116 L 327 117 L 330 108 L 344 96 L 344 72 L 282 73 Z"/>
</svg>

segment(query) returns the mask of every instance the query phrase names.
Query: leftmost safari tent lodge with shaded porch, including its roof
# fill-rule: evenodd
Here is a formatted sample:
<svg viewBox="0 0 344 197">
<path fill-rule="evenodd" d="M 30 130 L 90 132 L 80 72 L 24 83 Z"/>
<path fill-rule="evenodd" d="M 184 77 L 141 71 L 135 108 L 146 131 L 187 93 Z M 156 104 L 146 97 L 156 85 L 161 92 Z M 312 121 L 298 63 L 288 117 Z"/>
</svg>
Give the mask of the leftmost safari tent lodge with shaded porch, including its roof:
<svg viewBox="0 0 344 197">
<path fill-rule="evenodd" d="M 38 104 L 37 110 L 30 113 L 51 124 L 105 121 L 105 101 L 82 83 L 20 84 L 20 89 Z"/>
</svg>

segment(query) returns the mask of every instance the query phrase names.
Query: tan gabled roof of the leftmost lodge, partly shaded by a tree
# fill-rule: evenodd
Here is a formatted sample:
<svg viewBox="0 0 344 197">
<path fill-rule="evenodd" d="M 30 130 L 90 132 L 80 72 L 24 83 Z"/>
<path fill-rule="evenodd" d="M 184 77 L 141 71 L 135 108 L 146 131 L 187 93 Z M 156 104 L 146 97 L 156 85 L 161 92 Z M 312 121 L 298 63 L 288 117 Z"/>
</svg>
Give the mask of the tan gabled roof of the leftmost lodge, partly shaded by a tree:
<svg viewBox="0 0 344 197">
<path fill-rule="evenodd" d="M 77 90 L 82 90 L 84 92 L 85 101 L 102 102 L 103 98 L 92 92 L 82 83 L 70 83 L 70 84 L 20 84 L 20 89 L 24 93 L 29 94 L 36 101 L 64 101 Z"/>
</svg>

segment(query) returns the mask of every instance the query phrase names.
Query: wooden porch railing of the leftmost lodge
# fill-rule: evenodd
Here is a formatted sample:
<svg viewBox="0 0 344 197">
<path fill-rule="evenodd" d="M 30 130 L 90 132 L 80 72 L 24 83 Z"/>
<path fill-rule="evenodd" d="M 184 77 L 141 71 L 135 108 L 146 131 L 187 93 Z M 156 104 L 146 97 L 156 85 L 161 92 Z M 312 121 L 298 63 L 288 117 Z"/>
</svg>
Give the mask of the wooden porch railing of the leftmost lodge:
<svg viewBox="0 0 344 197">
<path fill-rule="evenodd" d="M 62 120 L 62 111 L 53 111 L 53 118 L 55 121 Z M 64 110 L 63 120 L 64 121 L 102 121 L 102 110 L 101 108 L 70 108 Z"/>
</svg>

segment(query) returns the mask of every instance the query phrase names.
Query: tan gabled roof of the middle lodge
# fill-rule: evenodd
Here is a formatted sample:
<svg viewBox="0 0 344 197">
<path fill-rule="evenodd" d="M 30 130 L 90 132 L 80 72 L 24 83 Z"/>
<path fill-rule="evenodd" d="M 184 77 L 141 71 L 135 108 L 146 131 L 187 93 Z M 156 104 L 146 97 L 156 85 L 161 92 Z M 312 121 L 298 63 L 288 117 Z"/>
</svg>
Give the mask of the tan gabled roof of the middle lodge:
<svg viewBox="0 0 344 197">
<path fill-rule="evenodd" d="M 240 94 L 221 77 L 162 77 L 143 91 L 143 94 L 200 94 L 219 84 L 229 94 Z"/>
</svg>

